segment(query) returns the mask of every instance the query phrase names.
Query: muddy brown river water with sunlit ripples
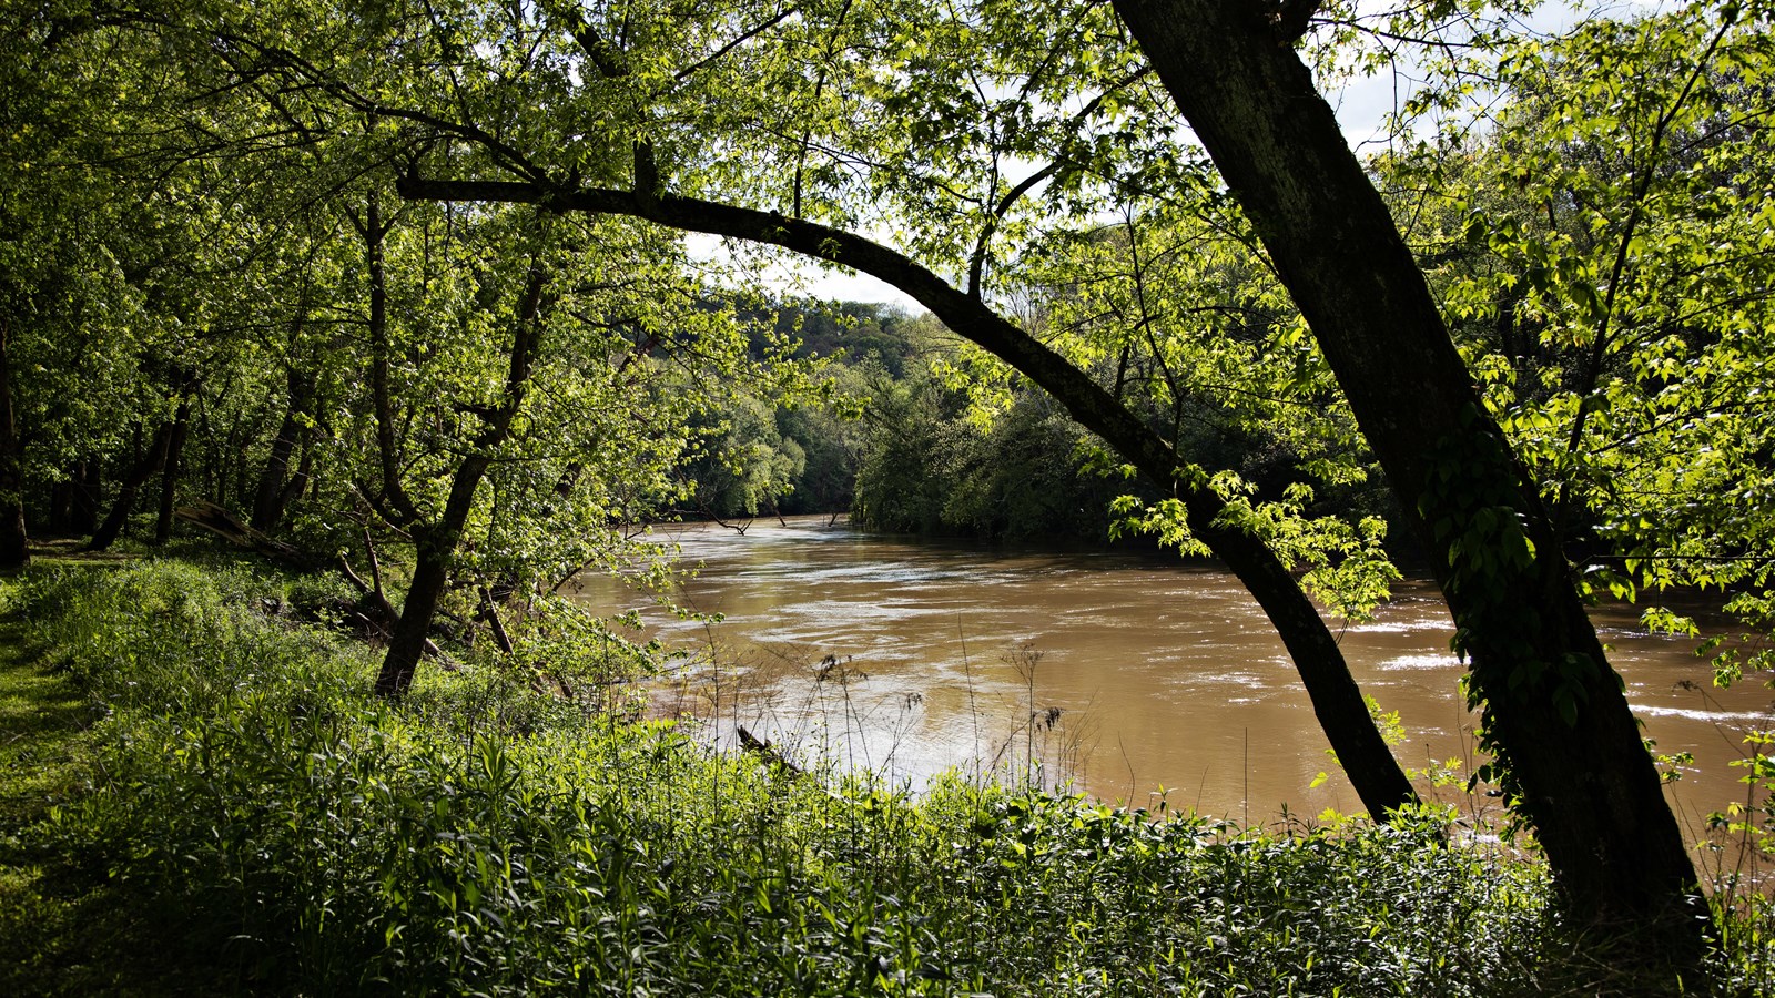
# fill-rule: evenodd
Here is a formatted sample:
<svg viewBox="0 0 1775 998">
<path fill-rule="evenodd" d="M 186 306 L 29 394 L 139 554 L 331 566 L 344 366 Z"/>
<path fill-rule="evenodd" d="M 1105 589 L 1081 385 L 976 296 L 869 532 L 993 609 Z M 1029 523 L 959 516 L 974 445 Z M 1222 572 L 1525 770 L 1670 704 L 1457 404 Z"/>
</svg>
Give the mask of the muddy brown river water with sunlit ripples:
<svg viewBox="0 0 1775 998">
<path fill-rule="evenodd" d="M 676 598 L 719 623 L 650 614 L 694 652 L 662 710 L 737 726 L 802 762 L 831 760 L 918 787 L 960 767 L 1070 783 L 1106 801 L 1273 822 L 1287 808 L 1360 812 L 1262 611 L 1225 570 L 1159 554 L 1056 552 L 884 538 L 825 517 L 659 527 L 683 566 Z M 600 613 L 648 598 L 589 579 Z M 1690 840 L 1745 799 L 1745 732 L 1775 726 L 1771 693 L 1720 691 L 1686 638 L 1645 634 L 1633 607 L 1594 614 L 1660 753 L 1693 755 L 1670 785 Z M 1397 710 L 1395 755 L 1427 769 L 1475 760 L 1454 629 L 1436 590 L 1395 586 L 1370 623 L 1340 630 L 1363 691 Z M 824 662 L 824 664 L 822 664 Z M 1324 774 L 1324 776 L 1321 776 Z M 1429 794 L 1495 813 L 1459 785 Z"/>
</svg>

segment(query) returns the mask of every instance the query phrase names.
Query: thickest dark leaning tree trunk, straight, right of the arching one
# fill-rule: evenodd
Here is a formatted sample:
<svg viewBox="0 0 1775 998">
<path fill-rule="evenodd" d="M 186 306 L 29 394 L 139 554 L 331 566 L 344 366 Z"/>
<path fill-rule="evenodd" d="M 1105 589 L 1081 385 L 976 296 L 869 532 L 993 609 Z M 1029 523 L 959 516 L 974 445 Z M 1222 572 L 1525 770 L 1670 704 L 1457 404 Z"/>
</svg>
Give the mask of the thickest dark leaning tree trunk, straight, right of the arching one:
<svg viewBox="0 0 1775 998">
<path fill-rule="evenodd" d="M 1115 0 L 1312 325 L 1436 575 L 1564 899 L 1699 950 L 1695 870 L 1539 490 L 1331 107 L 1253 0 Z M 1305 25 L 1305 21 L 1301 21 Z"/>
</svg>

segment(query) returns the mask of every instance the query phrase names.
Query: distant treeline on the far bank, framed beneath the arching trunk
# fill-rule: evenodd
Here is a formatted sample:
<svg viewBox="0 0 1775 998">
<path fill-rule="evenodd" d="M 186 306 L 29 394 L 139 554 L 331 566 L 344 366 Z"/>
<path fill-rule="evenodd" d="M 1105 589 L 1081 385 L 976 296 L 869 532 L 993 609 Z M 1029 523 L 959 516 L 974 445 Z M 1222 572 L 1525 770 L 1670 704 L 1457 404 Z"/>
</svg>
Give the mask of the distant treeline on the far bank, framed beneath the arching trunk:
<svg viewBox="0 0 1775 998">
<path fill-rule="evenodd" d="M 971 362 L 928 314 L 841 302 L 783 307 L 774 327 L 753 330 L 758 357 L 795 341 L 795 357 L 825 360 L 825 380 L 788 403 L 737 391 L 705 416 L 701 448 L 683 467 L 694 485 L 687 519 L 848 511 L 882 533 L 1104 543 L 1118 495 L 1157 499 L 1053 396 Z M 1322 511 L 1390 511 L 1381 490 L 1317 479 L 1280 428 L 1253 426 L 1212 400 L 1152 414 L 1156 424 L 1173 419 L 1187 453 L 1237 471 L 1258 499 L 1310 481 Z"/>
</svg>

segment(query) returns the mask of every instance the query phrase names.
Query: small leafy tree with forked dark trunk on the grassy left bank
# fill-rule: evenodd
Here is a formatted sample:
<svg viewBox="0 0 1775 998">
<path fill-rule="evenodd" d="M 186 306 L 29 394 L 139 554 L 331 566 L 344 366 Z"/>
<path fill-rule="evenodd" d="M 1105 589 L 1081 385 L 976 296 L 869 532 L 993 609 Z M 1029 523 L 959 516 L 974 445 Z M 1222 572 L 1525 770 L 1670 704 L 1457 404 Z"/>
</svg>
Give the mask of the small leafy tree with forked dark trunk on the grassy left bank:
<svg viewBox="0 0 1775 998">
<path fill-rule="evenodd" d="M 412 543 L 376 678 L 403 696 L 451 591 L 497 620 L 506 595 L 559 588 L 674 497 L 706 396 L 687 389 L 744 384 L 747 337 L 632 224 L 364 197 L 350 350 L 366 376 L 327 442 L 350 488 L 321 503 Z"/>
</svg>

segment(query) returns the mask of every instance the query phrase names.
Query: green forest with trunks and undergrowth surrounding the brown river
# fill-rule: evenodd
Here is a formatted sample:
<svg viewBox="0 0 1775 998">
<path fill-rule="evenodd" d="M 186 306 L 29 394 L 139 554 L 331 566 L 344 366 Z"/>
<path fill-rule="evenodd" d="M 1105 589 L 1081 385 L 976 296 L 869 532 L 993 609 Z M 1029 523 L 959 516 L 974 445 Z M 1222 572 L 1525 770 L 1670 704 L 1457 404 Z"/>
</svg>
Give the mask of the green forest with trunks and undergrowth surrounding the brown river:
<svg viewBox="0 0 1775 998">
<path fill-rule="evenodd" d="M 1587 616 L 1775 668 L 1775 7 L 0 11 L 20 993 L 1775 991 Z M 801 511 L 1218 561 L 1367 824 L 703 751 L 566 595 Z M 1340 648 L 1400 566 L 1507 852 Z"/>
</svg>

